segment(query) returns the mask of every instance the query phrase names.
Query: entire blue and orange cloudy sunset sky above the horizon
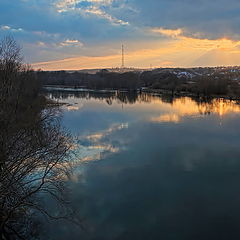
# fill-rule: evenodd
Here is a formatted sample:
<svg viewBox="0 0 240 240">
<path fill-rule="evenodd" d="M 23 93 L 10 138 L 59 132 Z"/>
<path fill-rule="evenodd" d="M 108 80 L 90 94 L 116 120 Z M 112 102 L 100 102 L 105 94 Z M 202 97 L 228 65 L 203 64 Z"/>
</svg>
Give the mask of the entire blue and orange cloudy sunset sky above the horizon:
<svg viewBox="0 0 240 240">
<path fill-rule="evenodd" d="M 240 65 L 239 0 L 0 0 L 35 69 Z"/>
</svg>

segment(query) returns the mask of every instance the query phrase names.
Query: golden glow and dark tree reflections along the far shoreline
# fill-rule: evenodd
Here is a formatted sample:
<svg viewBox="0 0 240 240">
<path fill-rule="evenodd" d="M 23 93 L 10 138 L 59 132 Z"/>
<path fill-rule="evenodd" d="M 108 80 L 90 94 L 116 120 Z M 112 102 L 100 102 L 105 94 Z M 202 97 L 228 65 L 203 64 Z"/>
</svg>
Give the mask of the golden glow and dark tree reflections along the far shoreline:
<svg viewBox="0 0 240 240">
<path fill-rule="evenodd" d="M 84 99 L 84 100 L 99 100 L 104 101 L 108 105 L 123 104 L 141 104 L 148 103 L 151 107 L 164 107 L 168 106 L 172 110 L 176 111 L 180 116 L 186 115 L 198 115 L 198 114 L 211 114 L 216 113 L 223 116 L 228 113 L 239 113 L 240 104 L 237 101 L 228 99 L 212 99 L 212 100 L 202 100 L 202 99 L 192 99 L 189 97 L 173 98 L 170 96 L 158 96 L 156 94 L 137 94 L 137 93 L 94 93 L 94 92 L 76 92 L 76 93 L 66 93 L 66 92 L 54 92 L 49 93 L 48 96 L 53 99 L 60 101 L 70 99 Z M 77 102 L 77 101 L 76 101 Z M 82 104 L 66 105 L 68 110 L 79 110 Z M 174 122 L 176 120 L 176 115 L 169 117 L 173 118 Z M 164 118 L 165 120 L 166 118 Z"/>
</svg>

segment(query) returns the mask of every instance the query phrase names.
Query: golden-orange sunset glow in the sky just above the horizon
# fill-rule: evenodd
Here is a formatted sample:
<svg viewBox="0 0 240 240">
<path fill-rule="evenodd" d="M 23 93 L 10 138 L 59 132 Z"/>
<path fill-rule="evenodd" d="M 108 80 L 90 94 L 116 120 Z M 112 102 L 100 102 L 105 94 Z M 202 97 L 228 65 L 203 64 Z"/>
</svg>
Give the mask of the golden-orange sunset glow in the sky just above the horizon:
<svg viewBox="0 0 240 240">
<path fill-rule="evenodd" d="M 125 54 L 126 66 L 153 67 L 194 67 L 240 64 L 240 41 L 227 37 L 221 39 L 198 39 L 183 36 L 183 30 L 153 29 L 154 34 L 170 37 L 164 43 L 159 40 L 152 47 L 136 43 L 137 50 L 128 50 Z M 121 65 L 121 53 L 105 56 L 79 56 L 55 61 L 32 64 L 42 70 L 80 70 L 111 68 Z"/>
</svg>

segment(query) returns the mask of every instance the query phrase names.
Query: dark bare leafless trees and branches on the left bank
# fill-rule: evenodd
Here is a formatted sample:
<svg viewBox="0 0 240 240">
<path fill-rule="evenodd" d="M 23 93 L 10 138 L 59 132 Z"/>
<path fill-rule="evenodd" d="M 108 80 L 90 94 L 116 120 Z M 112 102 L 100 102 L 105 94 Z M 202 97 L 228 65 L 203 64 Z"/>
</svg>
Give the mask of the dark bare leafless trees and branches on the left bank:
<svg viewBox="0 0 240 240">
<path fill-rule="evenodd" d="M 39 83 L 22 63 L 11 38 L 0 42 L 0 239 L 29 239 L 34 212 L 53 219 L 41 204 L 47 194 L 66 207 L 64 184 L 71 136 L 62 130 L 59 111 L 47 107 Z M 64 209 L 64 208 L 62 208 Z"/>
</svg>

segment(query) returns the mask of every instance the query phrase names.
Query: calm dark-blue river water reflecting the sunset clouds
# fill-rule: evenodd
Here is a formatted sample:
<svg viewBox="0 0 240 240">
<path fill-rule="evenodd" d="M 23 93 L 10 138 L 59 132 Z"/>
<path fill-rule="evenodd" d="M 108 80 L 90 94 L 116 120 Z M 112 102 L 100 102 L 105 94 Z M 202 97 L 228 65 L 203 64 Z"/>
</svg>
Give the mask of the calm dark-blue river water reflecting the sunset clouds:
<svg viewBox="0 0 240 240">
<path fill-rule="evenodd" d="M 69 103 L 63 125 L 78 136 L 70 198 L 84 230 L 48 223 L 44 239 L 239 239 L 240 105 L 49 96 Z"/>
</svg>

